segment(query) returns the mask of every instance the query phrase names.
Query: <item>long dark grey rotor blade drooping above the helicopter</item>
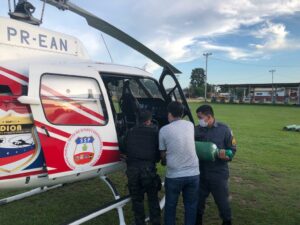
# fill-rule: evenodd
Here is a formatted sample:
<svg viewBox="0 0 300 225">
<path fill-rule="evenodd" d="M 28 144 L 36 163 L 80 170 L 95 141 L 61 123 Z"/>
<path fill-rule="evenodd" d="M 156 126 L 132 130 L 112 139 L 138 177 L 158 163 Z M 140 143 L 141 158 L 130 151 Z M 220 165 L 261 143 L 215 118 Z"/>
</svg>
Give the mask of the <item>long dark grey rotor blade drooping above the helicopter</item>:
<svg viewBox="0 0 300 225">
<path fill-rule="evenodd" d="M 87 23 L 94 27 L 95 29 L 108 34 L 109 36 L 121 41 L 122 43 L 128 45 L 129 47 L 135 49 L 142 55 L 148 57 L 158 65 L 162 66 L 163 68 L 170 70 L 173 73 L 181 73 L 176 67 L 171 65 L 161 56 L 153 52 L 151 49 L 143 45 L 141 42 L 137 41 L 133 37 L 129 36 L 125 32 L 121 31 L 120 29 L 116 28 L 115 26 L 109 24 L 108 22 L 100 19 L 99 17 L 91 14 L 90 12 L 80 8 L 79 6 L 71 3 L 68 0 L 47 0 L 47 3 L 56 6 L 62 10 L 70 10 L 82 17 L 84 17 Z"/>
</svg>

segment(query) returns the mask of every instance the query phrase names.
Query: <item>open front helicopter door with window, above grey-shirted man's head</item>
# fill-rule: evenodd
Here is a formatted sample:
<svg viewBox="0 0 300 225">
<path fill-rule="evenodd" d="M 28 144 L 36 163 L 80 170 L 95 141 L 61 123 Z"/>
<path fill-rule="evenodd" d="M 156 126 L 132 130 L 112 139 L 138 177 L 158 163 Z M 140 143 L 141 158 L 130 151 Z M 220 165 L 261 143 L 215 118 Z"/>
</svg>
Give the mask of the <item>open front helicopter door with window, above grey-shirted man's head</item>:
<svg viewBox="0 0 300 225">
<path fill-rule="evenodd" d="M 175 74 L 164 69 L 162 75 L 160 76 L 159 83 L 162 86 L 162 89 L 165 91 L 167 101 L 181 102 L 185 106 L 183 117 L 186 117 L 192 123 L 194 123 L 192 113 Z"/>
</svg>

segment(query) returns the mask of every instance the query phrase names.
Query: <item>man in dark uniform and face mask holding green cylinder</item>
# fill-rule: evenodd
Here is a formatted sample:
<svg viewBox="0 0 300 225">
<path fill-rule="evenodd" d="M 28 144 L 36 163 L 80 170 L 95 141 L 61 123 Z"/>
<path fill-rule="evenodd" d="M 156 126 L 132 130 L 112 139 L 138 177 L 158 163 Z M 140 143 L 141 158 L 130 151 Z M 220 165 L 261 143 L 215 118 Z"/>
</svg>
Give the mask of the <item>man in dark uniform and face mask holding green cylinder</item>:
<svg viewBox="0 0 300 225">
<path fill-rule="evenodd" d="M 231 225 L 231 209 L 229 205 L 228 162 L 232 160 L 226 156 L 226 150 L 236 152 L 236 141 L 232 131 L 224 123 L 217 122 L 210 105 L 202 105 L 197 109 L 199 125 L 195 127 L 195 140 L 212 142 L 221 149 L 215 161 L 200 161 L 199 203 L 196 225 L 202 225 L 205 201 L 212 193 L 223 220 L 222 225 Z"/>
</svg>

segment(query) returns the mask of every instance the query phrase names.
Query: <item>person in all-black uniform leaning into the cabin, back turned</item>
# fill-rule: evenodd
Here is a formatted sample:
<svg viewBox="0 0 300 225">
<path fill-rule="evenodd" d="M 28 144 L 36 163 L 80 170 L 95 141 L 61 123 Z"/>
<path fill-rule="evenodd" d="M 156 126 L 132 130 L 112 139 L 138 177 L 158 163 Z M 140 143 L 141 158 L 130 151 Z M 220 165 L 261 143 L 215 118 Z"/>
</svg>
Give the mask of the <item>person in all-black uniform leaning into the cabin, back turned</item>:
<svg viewBox="0 0 300 225">
<path fill-rule="evenodd" d="M 151 122 L 150 112 L 141 112 L 138 126 L 131 128 L 124 138 L 127 163 L 128 189 L 132 199 L 135 224 L 145 225 L 144 194 L 147 194 L 150 222 L 160 225 L 158 191 L 161 180 L 156 172 L 159 162 L 158 128 Z"/>
</svg>

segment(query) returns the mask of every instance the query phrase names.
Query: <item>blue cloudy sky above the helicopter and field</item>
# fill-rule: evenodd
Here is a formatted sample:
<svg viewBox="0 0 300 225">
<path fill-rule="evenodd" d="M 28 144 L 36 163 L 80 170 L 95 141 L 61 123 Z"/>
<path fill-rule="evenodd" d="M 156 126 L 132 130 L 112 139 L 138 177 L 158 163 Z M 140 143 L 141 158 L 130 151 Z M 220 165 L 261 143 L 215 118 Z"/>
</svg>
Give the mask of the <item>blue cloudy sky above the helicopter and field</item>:
<svg viewBox="0 0 300 225">
<path fill-rule="evenodd" d="M 40 17 L 41 1 L 29 0 Z M 7 0 L 0 0 L 7 17 Z M 161 55 L 189 85 L 191 71 L 205 68 L 208 83 L 300 82 L 300 0 L 71 0 Z M 111 62 L 101 33 L 68 11 L 48 5 L 42 27 L 79 38 L 95 61 Z M 145 68 L 157 78 L 161 67 L 103 34 L 113 58 Z"/>
</svg>

